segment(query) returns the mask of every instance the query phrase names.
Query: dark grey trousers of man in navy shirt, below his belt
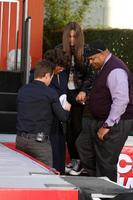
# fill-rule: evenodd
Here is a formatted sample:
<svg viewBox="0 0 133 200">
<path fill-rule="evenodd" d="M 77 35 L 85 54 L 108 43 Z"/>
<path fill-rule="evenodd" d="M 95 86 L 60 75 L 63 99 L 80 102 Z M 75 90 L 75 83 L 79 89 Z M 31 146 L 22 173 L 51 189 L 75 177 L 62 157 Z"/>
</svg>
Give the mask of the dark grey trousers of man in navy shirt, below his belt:
<svg viewBox="0 0 133 200">
<path fill-rule="evenodd" d="M 52 167 L 52 148 L 49 140 L 37 142 L 35 135 L 30 134 L 29 137 L 17 135 L 16 148 Z"/>
</svg>

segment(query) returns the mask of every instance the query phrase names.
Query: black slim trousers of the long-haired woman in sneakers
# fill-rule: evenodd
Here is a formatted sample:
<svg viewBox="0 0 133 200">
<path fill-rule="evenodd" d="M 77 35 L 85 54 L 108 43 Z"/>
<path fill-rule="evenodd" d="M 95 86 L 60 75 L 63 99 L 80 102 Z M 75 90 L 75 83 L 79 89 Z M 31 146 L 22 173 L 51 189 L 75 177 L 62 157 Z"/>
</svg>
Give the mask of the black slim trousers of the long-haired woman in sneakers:
<svg viewBox="0 0 133 200">
<path fill-rule="evenodd" d="M 70 118 L 66 127 L 66 141 L 70 158 L 79 159 L 75 142 L 82 130 L 83 106 L 80 104 L 72 105 Z"/>
</svg>

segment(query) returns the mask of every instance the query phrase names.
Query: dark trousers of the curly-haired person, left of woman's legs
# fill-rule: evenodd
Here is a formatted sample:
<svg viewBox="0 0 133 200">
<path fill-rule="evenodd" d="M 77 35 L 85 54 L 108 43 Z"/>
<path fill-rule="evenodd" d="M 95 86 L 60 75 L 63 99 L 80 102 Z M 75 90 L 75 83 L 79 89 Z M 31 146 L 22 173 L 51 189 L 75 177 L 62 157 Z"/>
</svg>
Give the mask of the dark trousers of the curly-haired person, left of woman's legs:
<svg viewBox="0 0 133 200">
<path fill-rule="evenodd" d="M 53 151 L 53 168 L 60 172 L 60 174 L 65 173 L 65 136 L 63 133 L 62 123 L 58 119 L 54 119 L 51 133 L 50 141 Z"/>
</svg>

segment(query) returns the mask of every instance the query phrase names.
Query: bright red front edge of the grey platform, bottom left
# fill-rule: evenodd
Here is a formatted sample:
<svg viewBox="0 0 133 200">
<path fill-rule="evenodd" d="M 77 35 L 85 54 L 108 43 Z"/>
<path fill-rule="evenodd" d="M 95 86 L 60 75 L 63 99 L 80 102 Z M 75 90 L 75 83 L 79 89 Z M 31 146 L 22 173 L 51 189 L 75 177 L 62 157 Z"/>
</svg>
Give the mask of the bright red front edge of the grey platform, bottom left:
<svg viewBox="0 0 133 200">
<path fill-rule="evenodd" d="M 78 190 L 0 189 L 1 200 L 78 200 Z"/>
</svg>

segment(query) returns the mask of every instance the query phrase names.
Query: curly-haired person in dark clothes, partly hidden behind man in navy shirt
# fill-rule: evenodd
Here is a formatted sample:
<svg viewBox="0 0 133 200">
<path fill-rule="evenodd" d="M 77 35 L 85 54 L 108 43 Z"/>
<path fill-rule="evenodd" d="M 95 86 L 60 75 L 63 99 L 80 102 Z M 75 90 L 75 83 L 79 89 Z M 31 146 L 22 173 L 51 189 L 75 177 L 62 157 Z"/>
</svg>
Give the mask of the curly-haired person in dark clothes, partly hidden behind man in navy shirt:
<svg viewBox="0 0 133 200">
<path fill-rule="evenodd" d="M 58 95 L 66 95 L 67 93 L 67 60 L 68 56 L 61 48 L 50 49 L 45 52 L 45 59 L 55 63 L 54 76 L 50 87 L 57 91 Z M 53 149 L 53 167 L 60 172 L 65 173 L 65 134 L 63 124 L 55 116 L 51 127 L 50 141 Z"/>
</svg>

